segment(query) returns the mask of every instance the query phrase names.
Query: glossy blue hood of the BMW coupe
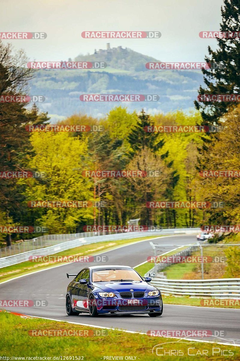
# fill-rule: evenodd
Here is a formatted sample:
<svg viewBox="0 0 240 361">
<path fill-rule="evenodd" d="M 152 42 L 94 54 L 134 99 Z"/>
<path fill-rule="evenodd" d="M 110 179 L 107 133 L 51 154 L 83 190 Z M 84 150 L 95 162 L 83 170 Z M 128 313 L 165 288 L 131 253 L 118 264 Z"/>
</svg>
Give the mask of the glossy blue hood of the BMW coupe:
<svg viewBox="0 0 240 361">
<path fill-rule="evenodd" d="M 93 282 L 92 285 L 105 292 L 153 291 L 154 287 L 145 281 Z"/>
</svg>

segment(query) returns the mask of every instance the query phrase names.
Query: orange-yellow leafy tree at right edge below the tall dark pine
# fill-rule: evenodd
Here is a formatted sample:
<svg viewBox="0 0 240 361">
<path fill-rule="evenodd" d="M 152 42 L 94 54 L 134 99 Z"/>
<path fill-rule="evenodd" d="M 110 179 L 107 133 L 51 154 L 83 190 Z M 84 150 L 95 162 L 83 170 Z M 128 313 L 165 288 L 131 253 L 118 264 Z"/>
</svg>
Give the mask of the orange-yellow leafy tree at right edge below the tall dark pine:
<svg viewBox="0 0 240 361">
<path fill-rule="evenodd" d="M 238 170 L 240 105 L 226 113 L 223 120 L 225 130 L 219 133 L 217 142 L 210 143 L 209 161 L 201 170 Z M 198 194 L 205 200 L 223 203 L 223 208 L 209 208 L 204 212 L 205 222 L 210 221 L 210 224 L 221 225 L 239 224 L 239 177 L 203 178 L 198 174 L 195 183 Z"/>
</svg>

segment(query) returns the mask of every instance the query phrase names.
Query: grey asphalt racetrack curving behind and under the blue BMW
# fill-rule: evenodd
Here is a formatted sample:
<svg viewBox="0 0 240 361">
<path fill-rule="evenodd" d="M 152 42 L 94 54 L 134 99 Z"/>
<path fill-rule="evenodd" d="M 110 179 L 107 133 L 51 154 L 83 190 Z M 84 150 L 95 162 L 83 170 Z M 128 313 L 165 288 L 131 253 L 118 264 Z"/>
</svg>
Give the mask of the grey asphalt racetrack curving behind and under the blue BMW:
<svg viewBox="0 0 240 361">
<path fill-rule="evenodd" d="M 175 235 L 161 237 L 153 241 L 159 244 L 187 244 L 196 242 L 195 235 Z M 176 246 L 172 246 L 172 249 Z M 163 253 L 171 250 L 164 248 Z M 71 255 L 71 249 L 69 250 Z M 134 267 L 153 255 L 148 241 L 130 244 L 104 252 L 108 257 L 106 265 L 128 265 Z M 96 263 L 87 263 L 92 266 Z M 110 327 L 137 332 L 148 330 L 216 330 L 225 331 L 224 338 L 214 338 L 221 343 L 240 344 L 240 309 L 222 309 L 165 305 L 161 317 L 146 315 L 102 315 L 96 318 L 82 313 L 79 316 L 67 316 L 65 294 L 71 280 L 66 273 L 78 273 L 86 264 L 74 262 L 52 269 L 40 271 L 0 284 L 1 300 L 47 300 L 46 307 L 12 307 L 10 311 L 31 316 L 46 317 L 86 325 Z M 200 302 L 200 299 L 199 299 Z M 191 337 L 193 339 L 193 337 Z M 213 340 L 204 338 L 201 340 Z"/>
</svg>

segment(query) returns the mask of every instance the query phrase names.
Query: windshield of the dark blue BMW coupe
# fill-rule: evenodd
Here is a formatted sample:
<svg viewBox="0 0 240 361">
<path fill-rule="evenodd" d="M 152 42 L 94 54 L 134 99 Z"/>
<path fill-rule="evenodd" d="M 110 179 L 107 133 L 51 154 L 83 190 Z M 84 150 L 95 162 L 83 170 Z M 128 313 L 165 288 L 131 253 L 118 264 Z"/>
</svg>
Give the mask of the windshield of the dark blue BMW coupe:
<svg viewBox="0 0 240 361">
<path fill-rule="evenodd" d="M 131 268 L 92 270 L 92 282 L 109 282 L 121 280 L 142 281 L 139 274 L 137 274 L 137 272 Z"/>
</svg>

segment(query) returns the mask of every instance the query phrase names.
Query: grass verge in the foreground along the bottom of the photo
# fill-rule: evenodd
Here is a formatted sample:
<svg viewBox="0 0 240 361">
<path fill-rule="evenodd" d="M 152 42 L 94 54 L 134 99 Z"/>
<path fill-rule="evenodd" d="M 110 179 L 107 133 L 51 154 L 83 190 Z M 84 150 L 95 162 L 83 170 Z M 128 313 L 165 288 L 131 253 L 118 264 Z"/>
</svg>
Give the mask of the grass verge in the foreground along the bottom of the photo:
<svg viewBox="0 0 240 361">
<path fill-rule="evenodd" d="M 161 318 L 159 318 L 159 322 Z M 239 348 L 234 346 L 218 345 L 214 343 L 200 343 L 189 341 L 189 343 L 179 343 L 177 339 L 150 337 L 141 334 L 131 334 L 122 331 L 96 329 L 88 326 L 74 325 L 65 322 L 56 322 L 36 318 L 20 318 L 17 315 L 0 312 L 0 352 L 5 357 L 54 357 L 62 356 L 62 360 L 73 360 L 73 356 L 83 356 L 80 360 L 95 361 L 104 360 L 104 356 L 133 356 L 133 360 L 153 361 L 160 359 L 152 354 L 152 349 L 160 343 L 164 347 L 162 352 L 169 352 L 171 349 L 180 350 L 184 356 L 175 360 L 201 360 L 203 357 L 198 354 L 194 358 L 187 356 L 188 348 L 193 351 L 202 353 L 207 350 L 208 360 L 226 360 L 226 356 L 221 356 L 221 351 L 231 350 L 232 356 L 227 356 L 227 360 L 239 360 Z M 99 330 L 100 336 L 30 336 L 31 330 Z M 86 331 L 85 331 L 86 332 Z M 205 338 L 204 340 L 207 340 Z M 173 343 L 169 343 L 173 342 Z M 187 342 L 187 340 L 185 340 Z M 219 351 L 212 356 L 213 350 Z M 199 351 L 198 351 L 199 350 Z M 225 351 L 227 352 L 227 351 Z M 70 356 L 71 358 L 67 358 Z M 164 360 L 172 360 L 173 356 L 165 356 Z M 106 358 L 105 358 L 106 360 Z M 108 359 L 109 360 L 109 359 Z"/>
</svg>

